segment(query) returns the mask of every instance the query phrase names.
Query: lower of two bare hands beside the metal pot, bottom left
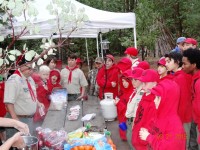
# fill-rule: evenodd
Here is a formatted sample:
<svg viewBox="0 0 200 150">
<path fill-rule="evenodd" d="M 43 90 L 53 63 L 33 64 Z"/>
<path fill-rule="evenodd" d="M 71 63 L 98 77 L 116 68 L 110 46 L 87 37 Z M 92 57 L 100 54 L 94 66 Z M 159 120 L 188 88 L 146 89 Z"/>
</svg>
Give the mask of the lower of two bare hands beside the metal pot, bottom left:
<svg viewBox="0 0 200 150">
<path fill-rule="evenodd" d="M 14 141 L 12 147 L 16 147 L 18 149 L 22 149 L 26 147 L 26 144 L 24 143 L 24 139 L 22 135 L 23 135 L 22 132 L 17 132 L 11 137 L 11 139 Z"/>
</svg>

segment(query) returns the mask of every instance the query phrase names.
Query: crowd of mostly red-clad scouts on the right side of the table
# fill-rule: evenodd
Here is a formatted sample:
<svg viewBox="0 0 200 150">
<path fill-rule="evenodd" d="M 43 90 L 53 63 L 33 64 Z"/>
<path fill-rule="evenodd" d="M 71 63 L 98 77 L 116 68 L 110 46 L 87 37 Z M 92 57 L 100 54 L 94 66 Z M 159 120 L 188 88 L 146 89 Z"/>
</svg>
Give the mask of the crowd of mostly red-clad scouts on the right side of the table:
<svg viewBox="0 0 200 150">
<path fill-rule="evenodd" d="M 119 136 L 130 149 L 199 149 L 200 137 L 200 50 L 193 38 L 180 37 L 177 47 L 151 69 L 129 47 L 117 64 L 106 55 L 102 67 L 91 71 L 99 99 L 111 92 L 117 106 Z M 95 76 L 96 75 L 96 76 Z M 96 79 L 96 80 L 94 80 Z M 197 137 L 198 135 L 198 137 Z"/>
</svg>

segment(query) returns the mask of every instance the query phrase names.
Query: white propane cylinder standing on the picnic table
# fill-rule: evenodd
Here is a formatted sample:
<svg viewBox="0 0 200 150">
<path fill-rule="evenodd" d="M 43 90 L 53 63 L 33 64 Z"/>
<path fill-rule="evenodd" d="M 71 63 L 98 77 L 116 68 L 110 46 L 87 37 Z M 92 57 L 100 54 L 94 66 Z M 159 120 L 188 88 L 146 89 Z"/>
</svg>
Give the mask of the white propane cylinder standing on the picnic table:
<svg viewBox="0 0 200 150">
<path fill-rule="evenodd" d="M 106 121 L 114 121 L 117 117 L 117 107 L 113 101 L 113 93 L 105 93 L 105 99 L 100 102 L 102 115 Z"/>
</svg>

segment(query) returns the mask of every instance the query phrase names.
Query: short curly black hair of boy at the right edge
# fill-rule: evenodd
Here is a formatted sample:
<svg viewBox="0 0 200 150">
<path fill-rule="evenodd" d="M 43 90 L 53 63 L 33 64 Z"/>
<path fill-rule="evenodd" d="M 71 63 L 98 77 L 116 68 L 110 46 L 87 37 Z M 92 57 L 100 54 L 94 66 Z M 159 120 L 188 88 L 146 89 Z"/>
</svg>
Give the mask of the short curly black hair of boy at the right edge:
<svg viewBox="0 0 200 150">
<path fill-rule="evenodd" d="M 197 69 L 200 69 L 200 50 L 189 48 L 183 51 L 183 57 L 187 57 L 191 64 L 196 64 Z"/>
</svg>

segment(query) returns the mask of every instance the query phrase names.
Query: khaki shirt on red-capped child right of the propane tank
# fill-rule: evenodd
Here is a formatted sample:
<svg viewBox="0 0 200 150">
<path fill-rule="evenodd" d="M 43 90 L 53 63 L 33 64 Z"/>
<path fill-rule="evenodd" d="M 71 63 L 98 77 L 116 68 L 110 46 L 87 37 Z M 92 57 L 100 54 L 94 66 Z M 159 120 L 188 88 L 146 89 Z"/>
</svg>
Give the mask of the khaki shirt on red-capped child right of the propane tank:
<svg viewBox="0 0 200 150">
<path fill-rule="evenodd" d="M 142 89 L 142 86 L 138 87 L 135 96 L 133 98 L 132 98 L 132 95 L 130 96 L 130 99 L 127 103 L 126 113 L 125 113 L 126 118 L 132 118 L 136 116 L 138 104 L 144 94 L 144 92 L 142 92 L 141 89 Z"/>
</svg>

